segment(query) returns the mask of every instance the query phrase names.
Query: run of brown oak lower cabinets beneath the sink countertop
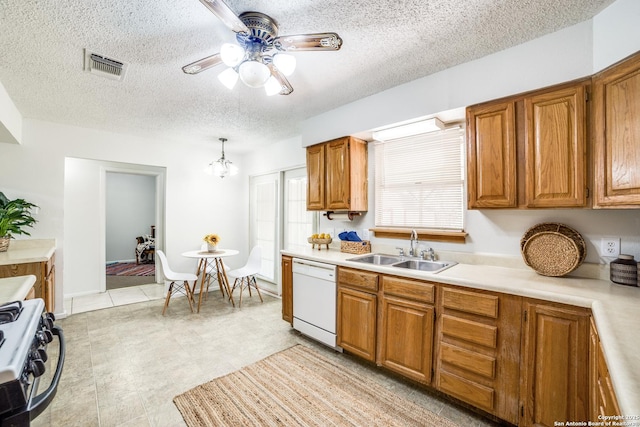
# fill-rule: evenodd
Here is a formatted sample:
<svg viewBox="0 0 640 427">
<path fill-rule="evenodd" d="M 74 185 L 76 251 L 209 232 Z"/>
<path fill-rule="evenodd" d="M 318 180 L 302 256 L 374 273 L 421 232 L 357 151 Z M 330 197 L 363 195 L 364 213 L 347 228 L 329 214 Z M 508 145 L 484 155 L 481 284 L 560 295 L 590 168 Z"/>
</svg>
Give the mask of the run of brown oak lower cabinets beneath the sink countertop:
<svg viewBox="0 0 640 427">
<path fill-rule="evenodd" d="M 337 292 L 346 352 L 485 413 L 518 426 L 620 413 L 587 308 L 346 267 Z"/>
</svg>

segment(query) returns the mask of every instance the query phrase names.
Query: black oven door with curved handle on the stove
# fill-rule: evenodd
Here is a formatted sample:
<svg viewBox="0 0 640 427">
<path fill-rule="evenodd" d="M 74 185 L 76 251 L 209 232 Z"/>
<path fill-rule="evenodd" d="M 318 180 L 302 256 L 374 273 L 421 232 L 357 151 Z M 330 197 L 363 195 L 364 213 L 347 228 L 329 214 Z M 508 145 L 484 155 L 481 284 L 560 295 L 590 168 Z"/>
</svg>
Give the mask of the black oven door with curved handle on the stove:
<svg viewBox="0 0 640 427">
<path fill-rule="evenodd" d="M 29 399 L 26 405 L 21 408 L 15 409 L 12 412 L 0 415 L 0 427 L 24 427 L 29 426 L 31 421 L 40 415 L 49 406 L 51 401 L 56 395 L 58 390 L 58 384 L 60 383 L 60 377 L 62 376 L 62 368 L 64 367 L 64 357 L 66 352 L 66 345 L 64 341 L 64 334 L 62 329 L 58 326 L 54 326 L 51 329 L 51 333 L 58 337 L 59 351 L 58 361 L 56 363 L 56 370 L 51 377 L 49 386 L 41 393 L 38 393 L 38 389 L 42 388 L 43 378 L 48 378 L 47 375 L 33 379 L 32 386 L 28 391 Z M 33 377 L 31 375 L 31 377 Z"/>
</svg>

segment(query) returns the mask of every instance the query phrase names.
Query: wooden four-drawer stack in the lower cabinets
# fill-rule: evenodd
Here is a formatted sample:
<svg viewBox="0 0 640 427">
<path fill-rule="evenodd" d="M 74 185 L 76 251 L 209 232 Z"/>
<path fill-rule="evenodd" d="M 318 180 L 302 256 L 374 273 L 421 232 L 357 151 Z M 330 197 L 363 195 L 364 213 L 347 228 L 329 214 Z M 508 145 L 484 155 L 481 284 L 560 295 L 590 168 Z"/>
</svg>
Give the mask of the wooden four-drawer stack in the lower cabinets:
<svg viewBox="0 0 640 427">
<path fill-rule="evenodd" d="M 435 387 L 518 423 L 522 298 L 440 286 Z"/>
</svg>

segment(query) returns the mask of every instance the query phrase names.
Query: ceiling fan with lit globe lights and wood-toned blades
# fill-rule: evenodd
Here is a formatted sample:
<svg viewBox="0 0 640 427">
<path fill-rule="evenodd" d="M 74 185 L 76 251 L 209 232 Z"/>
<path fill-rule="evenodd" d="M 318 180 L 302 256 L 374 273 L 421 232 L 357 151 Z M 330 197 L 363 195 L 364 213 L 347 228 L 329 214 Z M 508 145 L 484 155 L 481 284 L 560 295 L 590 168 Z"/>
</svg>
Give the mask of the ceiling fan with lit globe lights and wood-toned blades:
<svg viewBox="0 0 640 427">
<path fill-rule="evenodd" d="M 250 87 L 264 87 L 267 95 L 289 95 L 293 87 L 286 76 L 295 69 L 295 57 L 284 52 L 339 50 L 342 39 L 336 33 L 278 36 L 278 24 L 260 12 L 236 15 L 222 0 L 200 0 L 214 15 L 236 33 L 238 44 L 225 43 L 220 53 L 182 67 L 187 74 L 198 74 L 220 63 L 229 68 L 218 78 L 233 89 L 238 77 Z"/>
</svg>

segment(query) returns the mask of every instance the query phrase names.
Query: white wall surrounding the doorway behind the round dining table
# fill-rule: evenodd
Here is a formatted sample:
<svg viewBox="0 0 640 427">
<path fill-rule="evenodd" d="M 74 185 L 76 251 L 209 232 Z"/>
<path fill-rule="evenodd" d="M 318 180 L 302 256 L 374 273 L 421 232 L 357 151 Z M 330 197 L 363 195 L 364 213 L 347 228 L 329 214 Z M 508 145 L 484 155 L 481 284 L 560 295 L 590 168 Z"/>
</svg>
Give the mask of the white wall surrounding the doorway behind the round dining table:
<svg viewBox="0 0 640 427">
<path fill-rule="evenodd" d="M 20 196 L 40 206 L 32 238 L 56 239 L 56 313 L 64 311 L 64 295 L 94 288 L 104 268 L 104 246 L 101 255 L 98 244 L 91 245 L 103 232 L 99 167 L 83 164 L 65 177 L 67 159 L 165 168 L 164 249 L 172 268 L 192 271 L 194 261 L 180 254 L 198 249 L 207 233 L 218 233 L 223 246 L 247 253 L 246 176 L 221 180 L 204 174 L 213 157 L 211 146 L 189 141 L 176 147 L 158 139 L 25 119 L 22 144 L 0 144 L 0 158 L 6 160 L 0 168 L 0 188 L 8 197 Z M 241 158 L 232 160 L 244 171 Z M 65 182 L 95 196 L 65 203 Z M 228 264 L 237 267 L 243 261 L 242 256 L 232 257 Z"/>
</svg>

